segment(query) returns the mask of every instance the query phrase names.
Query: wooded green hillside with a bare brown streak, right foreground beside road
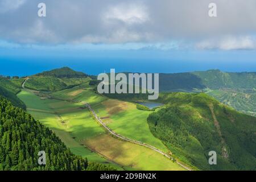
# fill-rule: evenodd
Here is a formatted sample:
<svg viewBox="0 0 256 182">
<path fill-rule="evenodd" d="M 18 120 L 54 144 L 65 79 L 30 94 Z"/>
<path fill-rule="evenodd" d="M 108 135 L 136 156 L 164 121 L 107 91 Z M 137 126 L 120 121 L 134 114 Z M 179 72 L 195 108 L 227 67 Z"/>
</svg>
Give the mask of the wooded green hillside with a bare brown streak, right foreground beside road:
<svg viewBox="0 0 256 182">
<path fill-rule="evenodd" d="M 221 104 L 207 94 L 161 94 L 164 109 L 148 117 L 155 137 L 179 159 L 199 169 L 255 170 L 256 118 Z M 217 152 L 217 165 L 208 152 Z"/>
</svg>

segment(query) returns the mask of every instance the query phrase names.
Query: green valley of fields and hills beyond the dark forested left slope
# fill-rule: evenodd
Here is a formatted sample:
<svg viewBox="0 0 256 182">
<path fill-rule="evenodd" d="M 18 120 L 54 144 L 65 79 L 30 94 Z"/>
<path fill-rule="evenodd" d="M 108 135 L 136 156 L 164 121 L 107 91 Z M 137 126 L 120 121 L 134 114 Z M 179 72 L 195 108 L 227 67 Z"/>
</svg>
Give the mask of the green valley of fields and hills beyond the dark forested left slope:
<svg viewBox="0 0 256 182">
<path fill-rule="evenodd" d="M 2 78 L 0 93 L 49 127 L 73 154 L 110 169 L 254 169 L 254 85 L 225 88 L 224 79 L 216 87 L 223 76 L 209 80 L 214 74 L 222 73 L 160 74 L 160 89 L 170 91 L 155 102 L 141 93 L 99 94 L 94 77 L 67 67 Z M 171 92 L 176 89 L 183 92 Z M 217 152 L 217 166 L 208 164 L 210 150 Z"/>
</svg>

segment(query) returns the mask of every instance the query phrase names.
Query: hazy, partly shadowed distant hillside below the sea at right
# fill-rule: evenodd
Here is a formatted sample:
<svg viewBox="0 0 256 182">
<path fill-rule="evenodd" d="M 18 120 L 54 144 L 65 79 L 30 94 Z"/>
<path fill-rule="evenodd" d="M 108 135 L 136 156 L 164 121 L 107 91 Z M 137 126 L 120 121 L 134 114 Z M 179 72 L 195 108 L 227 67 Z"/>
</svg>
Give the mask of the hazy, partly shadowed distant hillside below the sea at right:
<svg viewBox="0 0 256 182">
<path fill-rule="evenodd" d="M 256 115 L 256 72 L 230 73 L 212 69 L 159 75 L 160 92 L 207 92 L 218 101 Z"/>
</svg>

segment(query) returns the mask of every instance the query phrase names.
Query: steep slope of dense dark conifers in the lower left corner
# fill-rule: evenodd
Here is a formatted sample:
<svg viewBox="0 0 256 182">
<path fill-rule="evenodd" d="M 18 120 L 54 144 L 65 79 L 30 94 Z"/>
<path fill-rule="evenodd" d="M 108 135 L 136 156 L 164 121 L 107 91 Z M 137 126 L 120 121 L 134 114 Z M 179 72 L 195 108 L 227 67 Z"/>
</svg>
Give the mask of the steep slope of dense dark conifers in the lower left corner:
<svg viewBox="0 0 256 182">
<path fill-rule="evenodd" d="M 46 165 L 38 152 L 46 152 Z M 51 130 L 26 111 L 0 100 L 0 170 L 111 170 L 76 156 Z"/>
</svg>

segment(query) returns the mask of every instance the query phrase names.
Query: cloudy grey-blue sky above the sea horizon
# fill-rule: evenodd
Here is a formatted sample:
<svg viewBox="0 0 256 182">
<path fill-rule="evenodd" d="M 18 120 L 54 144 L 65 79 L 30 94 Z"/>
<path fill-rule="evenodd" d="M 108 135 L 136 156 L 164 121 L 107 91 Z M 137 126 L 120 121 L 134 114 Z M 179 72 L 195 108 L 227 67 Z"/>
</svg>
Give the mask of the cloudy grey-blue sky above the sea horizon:
<svg viewBox="0 0 256 182">
<path fill-rule="evenodd" d="M 46 17 L 38 16 L 40 2 Z M 208 15 L 212 2 L 215 18 Z M 256 1 L 0 0 L 0 55 L 10 49 L 250 54 L 256 49 Z"/>
</svg>

